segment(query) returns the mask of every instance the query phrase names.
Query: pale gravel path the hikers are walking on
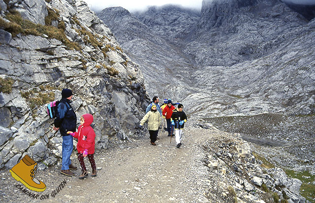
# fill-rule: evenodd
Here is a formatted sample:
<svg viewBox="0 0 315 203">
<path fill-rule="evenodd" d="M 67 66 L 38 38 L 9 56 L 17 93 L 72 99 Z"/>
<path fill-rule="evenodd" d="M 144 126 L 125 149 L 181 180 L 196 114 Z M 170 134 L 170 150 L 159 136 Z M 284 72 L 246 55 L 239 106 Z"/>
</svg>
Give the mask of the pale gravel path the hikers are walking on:
<svg viewBox="0 0 315 203">
<path fill-rule="evenodd" d="M 13 181 L 14 185 L 6 189 L 2 187 L 4 196 L 1 195 L 1 199 L 6 197 L 5 202 L 13 198 L 22 202 L 54 203 L 207 202 L 198 188 L 202 167 L 199 168 L 195 161 L 198 156 L 200 158 L 200 137 L 191 134 L 193 130 L 189 127 L 184 130 L 183 145 L 179 149 L 174 137 L 170 143 L 167 132 L 163 132 L 158 136 L 156 146 L 151 145 L 147 137 L 98 152 L 95 162 L 101 169 L 97 171 L 97 177 L 91 177 L 87 159 L 85 163 L 90 173 L 84 180 L 78 178 L 79 169 L 75 171 L 75 177 L 61 175 L 58 167 L 39 171 L 36 177 L 46 184 L 47 189 L 42 193 L 33 192 L 40 195 L 36 199 L 23 194 L 16 187 L 19 182 L 8 176 L 4 181 Z M 74 164 L 79 167 L 76 160 Z M 13 192 L 6 194 L 5 190 Z"/>
</svg>

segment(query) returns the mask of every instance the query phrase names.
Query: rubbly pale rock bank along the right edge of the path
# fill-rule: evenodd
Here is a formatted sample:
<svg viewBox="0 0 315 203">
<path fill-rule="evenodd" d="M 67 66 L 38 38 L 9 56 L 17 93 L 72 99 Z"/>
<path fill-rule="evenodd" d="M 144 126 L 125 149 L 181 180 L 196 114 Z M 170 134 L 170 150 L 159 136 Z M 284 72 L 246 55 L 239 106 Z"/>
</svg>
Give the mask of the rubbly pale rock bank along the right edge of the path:
<svg viewBox="0 0 315 203">
<path fill-rule="evenodd" d="M 239 134 L 223 133 L 200 123 L 194 125 L 203 129 L 194 129 L 195 133 L 215 134 L 202 145 L 201 153 L 204 166 L 209 168 L 209 181 L 203 188 L 207 188 L 205 195 L 210 202 L 221 199 L 221 202 L 228 202 L 227 199 L 235 202 L 233 196 L 237 202 L 246 203 L 270 202 L 271 196 L 276 196 L 279 202 L 306 202 L 299 194 L 301 180 L 288 177 L 283 169 L 263 167 L 262 161 L 253 155 L 251 144 Z"/>
</svg>

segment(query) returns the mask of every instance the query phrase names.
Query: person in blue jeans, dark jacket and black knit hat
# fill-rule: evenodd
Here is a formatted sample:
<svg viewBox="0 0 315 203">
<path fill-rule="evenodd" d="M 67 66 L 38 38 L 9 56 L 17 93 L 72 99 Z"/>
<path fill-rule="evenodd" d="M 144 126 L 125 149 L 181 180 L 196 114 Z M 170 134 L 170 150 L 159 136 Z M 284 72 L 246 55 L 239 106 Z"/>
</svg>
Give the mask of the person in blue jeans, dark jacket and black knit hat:
<svg viewBox="0 0 315 203">
<path fill-rule="evenodd" d="M 75 132 L 77 125 L 77 116 L 75 115 L 75 112 L 70 105 L 73 97 L 72 91 L 70 89 L 63 89 L 61 95 L 62 99 L 58 104 L 58 111 L 54 120 L 53 127 L 55 131 L 59 130 L 60 134 L 63 136 L 63 163 L 60 173 L 67 176 L 74 176 L 74 173 L 71 170 L 76 170 L 77 167 L 73 166 L 70 160 L 70 156 L 73 150 L 73 137 L 67 134 L 67 132 Z"/>
</svg>

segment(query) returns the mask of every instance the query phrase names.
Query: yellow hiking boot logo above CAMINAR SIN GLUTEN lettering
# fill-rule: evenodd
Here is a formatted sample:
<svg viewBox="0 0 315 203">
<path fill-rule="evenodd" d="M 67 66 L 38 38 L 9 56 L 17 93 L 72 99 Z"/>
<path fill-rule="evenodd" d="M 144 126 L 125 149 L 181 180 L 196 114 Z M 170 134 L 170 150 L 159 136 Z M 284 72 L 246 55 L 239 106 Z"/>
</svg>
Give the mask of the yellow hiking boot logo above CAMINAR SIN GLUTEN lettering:
<svg viewBox="0 0 315 203">
<path fill-rule="evenodd" d="M 14 179 L 20 181 L 30 190 L 36 192 L 46 190 L 46 185 L 34 177 L 37 172 L 37 163 L 34 162 L 29 155 L 25 155 L 19 163 L 10 169 L 10 172 Z"/>
</svg>

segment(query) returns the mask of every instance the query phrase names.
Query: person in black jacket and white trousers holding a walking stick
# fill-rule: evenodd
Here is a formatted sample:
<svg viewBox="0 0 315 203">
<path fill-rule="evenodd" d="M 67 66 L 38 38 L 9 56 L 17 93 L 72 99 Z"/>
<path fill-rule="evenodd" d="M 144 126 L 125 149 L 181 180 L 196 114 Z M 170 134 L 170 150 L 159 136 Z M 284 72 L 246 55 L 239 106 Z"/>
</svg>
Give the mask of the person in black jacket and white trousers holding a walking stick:
<svg viewBox="0 0 315 203">
<path fill-rule="evenodd" d="M 178 104 L 177 108 L 173 110 L 173 114 L 171 116 L 171 124 L 175 128 L 175 141 L 177 143 L 177 148 L 180 148 L 182 145 L 182 133 L 184 125 L 187 122 L 187 116 L 183 111 L 183 108 L 183 104 Z"/>
</svg>

